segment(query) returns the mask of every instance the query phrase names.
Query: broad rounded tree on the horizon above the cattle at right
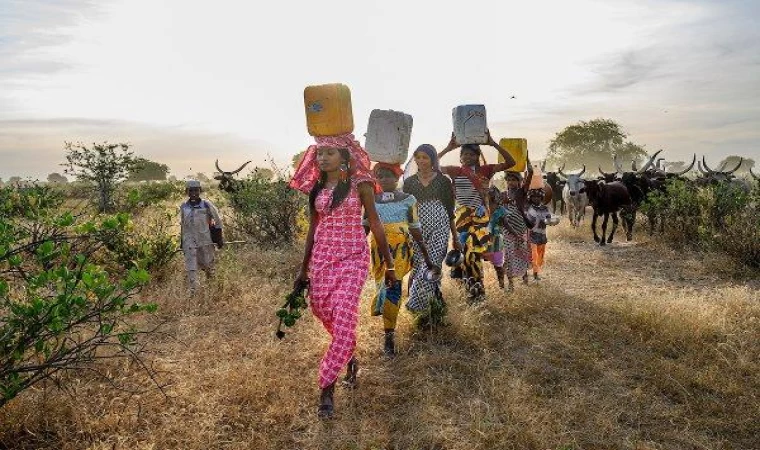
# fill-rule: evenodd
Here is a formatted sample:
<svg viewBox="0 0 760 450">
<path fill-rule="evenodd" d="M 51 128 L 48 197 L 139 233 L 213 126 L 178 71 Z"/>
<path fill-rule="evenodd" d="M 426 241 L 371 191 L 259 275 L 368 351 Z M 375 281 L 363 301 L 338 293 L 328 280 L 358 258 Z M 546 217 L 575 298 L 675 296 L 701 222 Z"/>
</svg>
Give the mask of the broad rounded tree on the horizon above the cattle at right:
<svg viewBox="0 0 760 450">
<path fill-rule="evenodd" d="M 593 170 L 601 166 L 613 169 L 613 157 L 620 162 L 646 157 L 640 145 L 627 141 L 621 126 L 611 119 L 580 121 L 565 127 L 549 143 L 547 160 L 551 165 L 569 164 L 580 167 L 586 164 Z"/>
</svg>

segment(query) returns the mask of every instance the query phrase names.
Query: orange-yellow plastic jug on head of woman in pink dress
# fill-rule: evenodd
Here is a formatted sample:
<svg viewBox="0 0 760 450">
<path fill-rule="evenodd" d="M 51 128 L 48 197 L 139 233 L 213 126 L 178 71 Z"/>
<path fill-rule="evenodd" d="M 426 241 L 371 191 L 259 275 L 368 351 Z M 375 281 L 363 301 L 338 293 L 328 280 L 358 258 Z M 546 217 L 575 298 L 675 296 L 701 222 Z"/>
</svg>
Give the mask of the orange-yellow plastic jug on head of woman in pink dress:
<svg viewBox="0 0 760 450">
<path fill-rule="evenodd" d="M 336 136 L 354 131 L 351 90 L 345 84 L 307 86 L 303 103 L 310 135 Z"/>
</svg>

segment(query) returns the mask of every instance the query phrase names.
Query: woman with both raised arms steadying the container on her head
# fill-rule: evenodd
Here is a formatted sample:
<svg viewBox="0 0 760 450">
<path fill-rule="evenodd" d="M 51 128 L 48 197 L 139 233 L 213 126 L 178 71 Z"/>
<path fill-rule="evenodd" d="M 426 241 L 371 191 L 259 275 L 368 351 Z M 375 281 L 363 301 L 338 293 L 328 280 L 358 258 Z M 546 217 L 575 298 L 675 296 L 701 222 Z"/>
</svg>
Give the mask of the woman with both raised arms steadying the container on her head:
<svg viewBox="0 0 760 450">
<path fill-rule="evenodd" d="M 461 277 L 465 283 L 470 300 L 482 300 L 485 296 L 483 284 L 483 254 L 488 251 L 490 234 L 488 232 L 488 185 L 497 172 L 502 172 L 515 165 L 512 156 L 497 144 L 488 133 L 488 142 L 504 158 L 501 164 L 480 164 L 480 147 L 474 144 L 462 145 L 459 154 L 461 166 L 441 167 L 441 171 L 454 181 L 454 192 L 458 208 L 454 213 L 459 242 L 463 246 L 464 264 L 459 272 L 452 273 Z M 454 133 L 449 144 L 438 157 L 459 147 Z"/>
</svg>

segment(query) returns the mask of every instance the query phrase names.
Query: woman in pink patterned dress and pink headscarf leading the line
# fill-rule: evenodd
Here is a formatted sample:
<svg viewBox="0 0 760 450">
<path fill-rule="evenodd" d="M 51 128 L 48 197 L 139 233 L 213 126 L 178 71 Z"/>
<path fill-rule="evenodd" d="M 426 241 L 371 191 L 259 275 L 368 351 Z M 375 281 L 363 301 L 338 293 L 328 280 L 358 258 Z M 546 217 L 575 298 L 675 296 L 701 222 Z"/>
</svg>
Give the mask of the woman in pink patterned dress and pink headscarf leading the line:
<svg viewBox="0 0 760 450">
<path fill-rule="evenodd" d="M 393 259 L 375 210 L 375 183 L 369 158 L 352 134 L 318 136 L 306 151 L 290 186 L 309 194 L 309 231 L 298 288 L 309 283 L 312 312 L 332 340 L 319 366 L 318 415 L 332 417 L 333 392 L 339 372 L 356 382 L 354 357 L 359 301 L 369 267 L 369 247 L 362 207 L 385 261 L 385 279 L 395 283 Z"/>
</svg>

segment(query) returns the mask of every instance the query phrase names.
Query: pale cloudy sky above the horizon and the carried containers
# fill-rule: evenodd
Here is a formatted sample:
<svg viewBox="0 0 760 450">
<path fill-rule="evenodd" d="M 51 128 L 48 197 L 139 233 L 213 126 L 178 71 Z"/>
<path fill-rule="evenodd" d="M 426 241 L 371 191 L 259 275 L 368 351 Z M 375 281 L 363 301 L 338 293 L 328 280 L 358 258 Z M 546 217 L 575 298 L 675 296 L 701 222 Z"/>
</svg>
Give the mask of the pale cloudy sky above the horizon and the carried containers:
<svg viewBox="0 0 760 450">
<path fill-rule="evenodd" d="M 760 161 L 760 1 L 0 0 L 0 177 L 61 171 L 64 141 L 128 141 L 178 177 L 311 142 L 303 88 L 351 88 L 440 148 L 482 103 L 534 158 L 579 120 L 666 159 Z M 510 99 L 511 96 L 515 99 Z"/>
</svg>

